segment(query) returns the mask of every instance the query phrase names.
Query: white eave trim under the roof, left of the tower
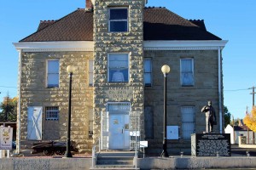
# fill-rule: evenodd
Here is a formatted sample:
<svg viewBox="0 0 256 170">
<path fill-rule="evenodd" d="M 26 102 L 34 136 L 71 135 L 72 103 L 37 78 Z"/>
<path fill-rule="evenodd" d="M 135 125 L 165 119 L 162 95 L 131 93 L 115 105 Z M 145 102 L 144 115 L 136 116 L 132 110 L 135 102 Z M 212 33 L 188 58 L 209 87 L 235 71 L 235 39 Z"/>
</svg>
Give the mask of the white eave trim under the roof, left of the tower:
<svg viewBox="0 0 256 170">
<path fill-rule="evenodd" d="M 14 42 L 17 50 L 23 52 L 44 51 L 94 51 L 93 41 L 65 41 L 65 42 Z"/>
</svg>

